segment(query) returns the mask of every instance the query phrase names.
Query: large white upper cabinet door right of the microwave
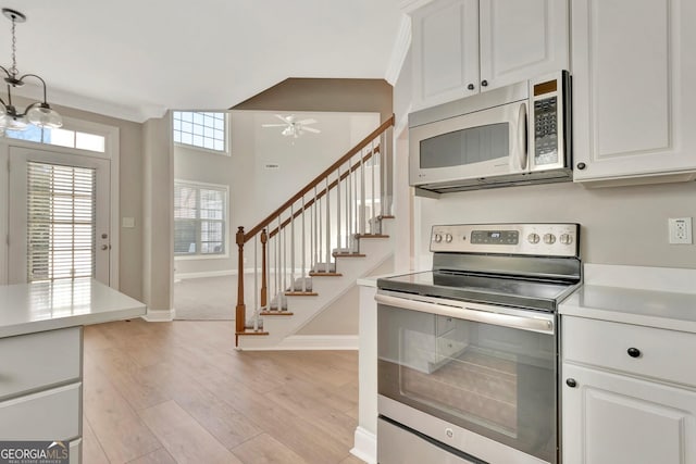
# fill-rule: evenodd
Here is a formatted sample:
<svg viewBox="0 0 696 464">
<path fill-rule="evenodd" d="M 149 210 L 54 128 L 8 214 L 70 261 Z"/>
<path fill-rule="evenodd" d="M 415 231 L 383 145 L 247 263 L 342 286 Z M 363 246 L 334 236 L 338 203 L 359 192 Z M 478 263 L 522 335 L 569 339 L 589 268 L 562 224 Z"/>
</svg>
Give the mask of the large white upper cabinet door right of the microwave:
<svg viewBox="0 0 696 464">
<path fill-rule="evenodd" d="M 571 17 L 575 180 L 695 170 L 696 2 L 574 0 Z"/>
</svg>

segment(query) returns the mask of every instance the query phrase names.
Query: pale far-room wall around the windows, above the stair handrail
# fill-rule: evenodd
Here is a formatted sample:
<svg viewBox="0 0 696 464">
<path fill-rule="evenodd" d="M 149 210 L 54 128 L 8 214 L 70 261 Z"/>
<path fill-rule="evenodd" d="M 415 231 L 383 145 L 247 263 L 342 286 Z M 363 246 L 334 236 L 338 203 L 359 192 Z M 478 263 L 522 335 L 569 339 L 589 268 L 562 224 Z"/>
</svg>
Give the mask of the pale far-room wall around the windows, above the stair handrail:
<svg viewBox="0 0 696 464">
<path fill-rule="evenodd" d="M 237 268 L 234 234 L 249 230 L 380 125 L 377 113 L 295 113 L 315 118 L 321 134 L 284 137 L 274 112 L 233 111 L 232 154 L 223 156 L 176 146 L 174 177 L 229 187 L 229 254 L 222 259 L 176 260 L 176 274 Z M 283 112 L 283 114 L 288 114 Z M 268 170 L 266 164 L 278 164 Z"/>
</svg>

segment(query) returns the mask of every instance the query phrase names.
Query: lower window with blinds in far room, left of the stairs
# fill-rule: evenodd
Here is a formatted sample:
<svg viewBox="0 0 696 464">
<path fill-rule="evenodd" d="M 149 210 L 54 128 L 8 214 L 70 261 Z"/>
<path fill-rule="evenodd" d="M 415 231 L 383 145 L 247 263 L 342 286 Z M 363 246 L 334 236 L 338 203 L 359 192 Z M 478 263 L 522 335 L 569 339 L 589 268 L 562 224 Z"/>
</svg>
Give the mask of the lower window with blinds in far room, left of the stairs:
<svg viewBox="0 0 696 464">
<path fill-rule="evenodd" d="M 174 184 L 174 255 L 227 253 L 227 187 Z"/>
</svg>

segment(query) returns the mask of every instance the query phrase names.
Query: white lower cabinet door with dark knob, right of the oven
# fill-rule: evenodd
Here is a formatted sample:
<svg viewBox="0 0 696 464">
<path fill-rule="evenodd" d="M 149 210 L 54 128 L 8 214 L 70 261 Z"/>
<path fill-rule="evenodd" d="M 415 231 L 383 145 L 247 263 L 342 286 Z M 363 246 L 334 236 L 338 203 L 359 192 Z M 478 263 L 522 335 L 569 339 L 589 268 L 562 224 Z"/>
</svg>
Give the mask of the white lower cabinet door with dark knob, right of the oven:
<svg viewBox="0 0 696 464">
<path fill-rule="evenodd" d="M 563 464 L 696 463 L 696 392 L 568 363 L 562 374 Z"/>
</svg>

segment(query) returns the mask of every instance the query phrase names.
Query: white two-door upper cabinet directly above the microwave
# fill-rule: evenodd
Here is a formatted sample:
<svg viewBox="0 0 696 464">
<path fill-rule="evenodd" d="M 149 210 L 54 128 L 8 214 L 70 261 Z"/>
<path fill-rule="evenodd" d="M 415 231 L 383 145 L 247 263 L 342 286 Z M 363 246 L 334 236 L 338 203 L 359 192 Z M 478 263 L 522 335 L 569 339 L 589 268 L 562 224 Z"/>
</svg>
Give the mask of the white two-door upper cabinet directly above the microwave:
<svg viewBox="0 0 696 464">
<path fill-rule="evenodd" d="M 436 0 L 411 17 L 414 110 L 569 67 L 567 0 Z"/>
</svg>

